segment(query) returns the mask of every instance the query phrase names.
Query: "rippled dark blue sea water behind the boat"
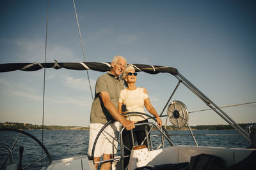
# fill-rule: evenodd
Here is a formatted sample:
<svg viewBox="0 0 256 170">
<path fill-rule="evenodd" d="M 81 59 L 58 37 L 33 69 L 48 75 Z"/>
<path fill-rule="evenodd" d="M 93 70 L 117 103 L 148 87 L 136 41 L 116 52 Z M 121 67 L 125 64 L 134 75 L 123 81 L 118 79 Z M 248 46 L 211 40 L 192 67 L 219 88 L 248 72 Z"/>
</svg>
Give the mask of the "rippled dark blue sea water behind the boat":
<svg viewBox="0 0 256 170">
<path fill-rule="evenodd" d="M 51 155 L 52 160 L 65 159 L 68 157 L 77 157 L 86 155 L 88 149 L 89 131 L 53 131 L 53 130 L 29 130 L 26 131 L 38 138 L 44 146 L 47 148 Z M 150 132 L 150 134 L 156 134 L 156 131 Z M 10 148 L 19 133 L 17 132 L 3 132 L 0 131 L 0 145 L 8 145 Z M 195 145 L 195 141 L 191 136 L 188 136 L 189 131 L 168 131 L 170 138 L 174 145 Z M 180 134 L 180 135 L 178 135 Z M 245 139 L 241 134 L 234 130 L 216 130 L 216 131 L 193 131 L 195 134 L 196 142 L 199 146 L 221 146 L 226 148 L 246 148 L 250 145 L 250 142 Z M 224 135 L 227 134 L 227 135 Z M 44 139 L 42 140 L 42 136 Z M 161 143 L 160 137 L 152 139 L 152 146 L 156 148 Z M 164 140 L 164 145 L 170 145 L 168 141 Z M 42 151 L 40 145 L 35 140 L 20 134 L 17 143 L 13 148 L 13 161 L 19 162 L 19 147 L 24 146 L 24 153 L 22 157 L 22 167 L 28 166 L 34 161 L 45 156 L 45 152 Z M 8 152 L 4 148 L 0 148 L 0 166 L 2 166 L 4 160 L 8 157 Z M 10 159 L 7 160 L 7 164 L 10 164 Z M 47 159 L 44 159 L 43 163 L 40 161 L 28 169 L 40 169 L 41 166 L 47 166 L 49 164 Z M 1 167 L 0 167 L 1 169 Z"/>
</svg>

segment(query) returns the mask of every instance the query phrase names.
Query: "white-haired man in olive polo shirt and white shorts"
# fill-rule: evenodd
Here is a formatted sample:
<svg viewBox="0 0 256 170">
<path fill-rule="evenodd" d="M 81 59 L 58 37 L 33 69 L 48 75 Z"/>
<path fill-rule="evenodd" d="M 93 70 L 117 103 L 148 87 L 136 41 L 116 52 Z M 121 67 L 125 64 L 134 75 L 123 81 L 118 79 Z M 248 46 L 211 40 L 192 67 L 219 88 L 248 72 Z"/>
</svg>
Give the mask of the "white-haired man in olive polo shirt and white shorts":
<svg viewBox="0 0 256 170">
<path fill-rule="evenodd" d="M 127 62 L 124 57 L 120 55 L 115 56 L 111 62 L 111 70 L 97 79 L 95 98 L 90 115 L 89 156 L 92 156 L 93 143 L 97 134 L 109 120 L 117 120 L 127 130 L 135 127 L 132 121 L 122 117 L 117 110 L 120 91 L 124 89 L 124 82 L 119 76 L 124 73 L 126 66 Z M 118 122 L 114 122 L 105 129 L 114 138 L 118 138 Z M 117 145 L 115 145 L 116 141 L 113 138 L 109 138 L 108 134 L 100 135 L 95 147 L 94 162 L 99 162 L 102 155 L 103 160 L 113 159 Z M 99 164 L 95 164 L 96 169 L 98 166 Z M 111 169 L 111 162 L 102 164 L 100 169 Z"/>
</svg>

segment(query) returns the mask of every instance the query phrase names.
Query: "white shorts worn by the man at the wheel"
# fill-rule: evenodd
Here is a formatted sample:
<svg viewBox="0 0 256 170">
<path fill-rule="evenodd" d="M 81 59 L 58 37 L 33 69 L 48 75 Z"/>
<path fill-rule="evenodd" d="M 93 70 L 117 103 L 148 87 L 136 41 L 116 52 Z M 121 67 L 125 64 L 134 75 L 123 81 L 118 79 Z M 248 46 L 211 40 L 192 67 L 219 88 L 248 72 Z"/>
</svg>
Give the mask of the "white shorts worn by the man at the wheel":
<svg viewBox="0 0 256 170">
<path fill-rule="evenodd" d="M 92 157 L 92 148 L 94 141 L 104 124 L 90 124 L 90 137 L 89 137 L 89 146 L 88 146 L 88 155 Z M 94 157 L 101 157 L 102 154 L 113 155 L 116 153 L 118 142 L 118 134 L 119 134 L 119 122 L 115 122 L 113 124 L 108 125 L 104 129 L 104 131 L 100 134 L 95 150 Z M 109 136 L 111 135 L 111 136 Z M 113 139 L 113 138 L 115 139 Z"/>
</svg>

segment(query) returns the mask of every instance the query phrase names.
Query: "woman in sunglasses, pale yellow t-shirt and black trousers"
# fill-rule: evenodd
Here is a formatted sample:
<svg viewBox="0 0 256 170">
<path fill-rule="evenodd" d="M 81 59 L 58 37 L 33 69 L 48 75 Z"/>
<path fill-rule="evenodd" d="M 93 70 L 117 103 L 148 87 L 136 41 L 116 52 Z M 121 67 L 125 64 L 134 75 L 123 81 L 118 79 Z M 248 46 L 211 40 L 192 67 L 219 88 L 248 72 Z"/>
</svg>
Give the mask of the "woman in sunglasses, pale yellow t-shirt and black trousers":
<svg viewBox="0 0 256 170">
<path fill-rule="evenodd" d="M 127 111 L 137 111 L 141 113 L 146 113 L 144 110 L 144 106 L 149 113 L 151 113 L 154 117 L 156 117 L 158 126 L 162 126 L 161 118 L 157 114 L 157 111 L 154 109 L 150 100 L 148 98 L 148 94 L 143 92 L 143 87 L 136 87 L 135 83 L 137 80 L 137 73 L 135 73 L 134 67 L 130 64 L 126 67 L 124 73 L 121 76 L 122 80 L 124 80 L 124 84 L 126 89 L 121 90 L 120 98 L 118 103 L 118 111 L 122 113 L 122 105 L 126 105 Z M 133 121 L 134 123 L 144 123 L 148 122 L 147 116 L 145 115 L 136 115 L 132 114 L 129 117 L 126 117 L 128 120 Z M 145 138 L 145 125 L 136 126 L 133 131 L 134 140 L 137 141 L 138 145 L 141 145 L 143 139 Z M 126 129 L 123 132 L 123 141 L 124 145 L 127 146 L 130 150 L 132 149 L 133 142 L 131 137 L 131 131 L 127 131 Z M 147 145 L 146 142 L 143 143 Z M 125 155 L 130 155 L 131 152 L 125 148 Z M 125 167 L 129 163 L 129 157 L 125 158 L 124 164 Z"/>
</svg>

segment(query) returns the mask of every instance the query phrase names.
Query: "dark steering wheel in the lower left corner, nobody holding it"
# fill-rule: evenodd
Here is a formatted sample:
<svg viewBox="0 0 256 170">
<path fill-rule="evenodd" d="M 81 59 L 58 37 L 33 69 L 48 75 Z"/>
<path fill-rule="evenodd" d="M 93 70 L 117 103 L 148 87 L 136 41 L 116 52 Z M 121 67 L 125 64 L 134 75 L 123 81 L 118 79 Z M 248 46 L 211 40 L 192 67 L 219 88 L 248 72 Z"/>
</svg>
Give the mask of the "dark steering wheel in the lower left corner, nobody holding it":
<svg viewBox="0 0 256 170">
<path fill-rule="evenodd" d="M 45 159 L 45 158 L 47 158 L 49 164 L 51 164 L 52 160 L 51 160 L 51 156 L 50 156 L 48 150 L 45 148 L 45 146 L 44 146 L 35 136 L 29 134 L 28 132 L 20 131 L 19 129 L 1 128 L 0 131 L 6 131 L 6 132 L 8 132 L 8 136 L 9 136 L 9 137 L 10 137 L 10 131 L 12 131 L 12 132 L 17 132 L 17 134 L 18 134 L 18 135 L 17 135 L 17 138 L 15 139 L 14 143 L 12 144 L 12 146 L 6 145 L 6 144 L 4 144 L 4 145 L 1 144 L 1 145 L 0 145 L 0 148 L 5 148 L 5 149 L 8 150 L 8 152 L 9 152 L 9 154 L 8 154 L 8 156 L 6 157 L 5 160 L 4 160 L 4 158 L 2 158 L 2 160 L 4 160 L 4 161 L 3 161 L 3 164 L 0 165 L 1 170 L 4 169 L 4 167 L 6 166 L 6 162 L 7 162 L 7 160 L 9 159 L 9 157 L 10 157 L 10 163 L 13 164 L 13 149 L 14 149 L 14 147 L 15 147 L 15 145 L 16 145 L 18 139 L 20 138 L 20 134 L 24 134 L 25 136 L 23 136 L 23 135 L 22 135 L 22 136 L 25 137 L 25 138 L 28 138 L 28 137 L 29 137 L 29 138 L 32 138 L 34 141 L 36 141 L 36 143 L 37 143 L 38 145 L 40 145 L 40 147 L 42 148 L 42 150 L 44 150 L 44 153 L 46 154 L 46 156 L 45 156 L 45 157 L 42 157 L 42 158 L 40 158 L 40 159 L 38 159 L 38 160 L 34 160 L 33 163 L 27 165 L 26 167 L 22 167 L 22 155 L 23 155 L 23 149 L 24 149 L 24 147 L 23 147 L 23 146 L 20 146 L 20 147 L 19 147 L 20 159 L 19 159 L 19 167 L 18 167 L 18 169 L 26 169 L 26 168 L 28 168 L 28 167 L 31 167 L 33 164 L 35 164 L 35 163 L 37 163 L 37 162 L 40 162 L 41 160 L 43 160 L 43 159 Z M 2 136 L 2 137 L 4 138 L 4 136 Z M 22 138 L 23 138 L 23 137 L 22 137 Z M 26 142 L 26 143 L 30 143 L 29 140 L 26 140 L 25 142 Z M 24 152 L 24 153 L 28 153 L 28 152 Z M 42 153 L 43 153 L 43 152 L 42 152 Z M 44 154 L 44 155 L 45 155 L 45 154 Z M 26 156 L 26 155 L 25 155 L 25 156 Z M 29 159 L 29 161 L 33 161 L 33 160 Z"/>
</svg>

